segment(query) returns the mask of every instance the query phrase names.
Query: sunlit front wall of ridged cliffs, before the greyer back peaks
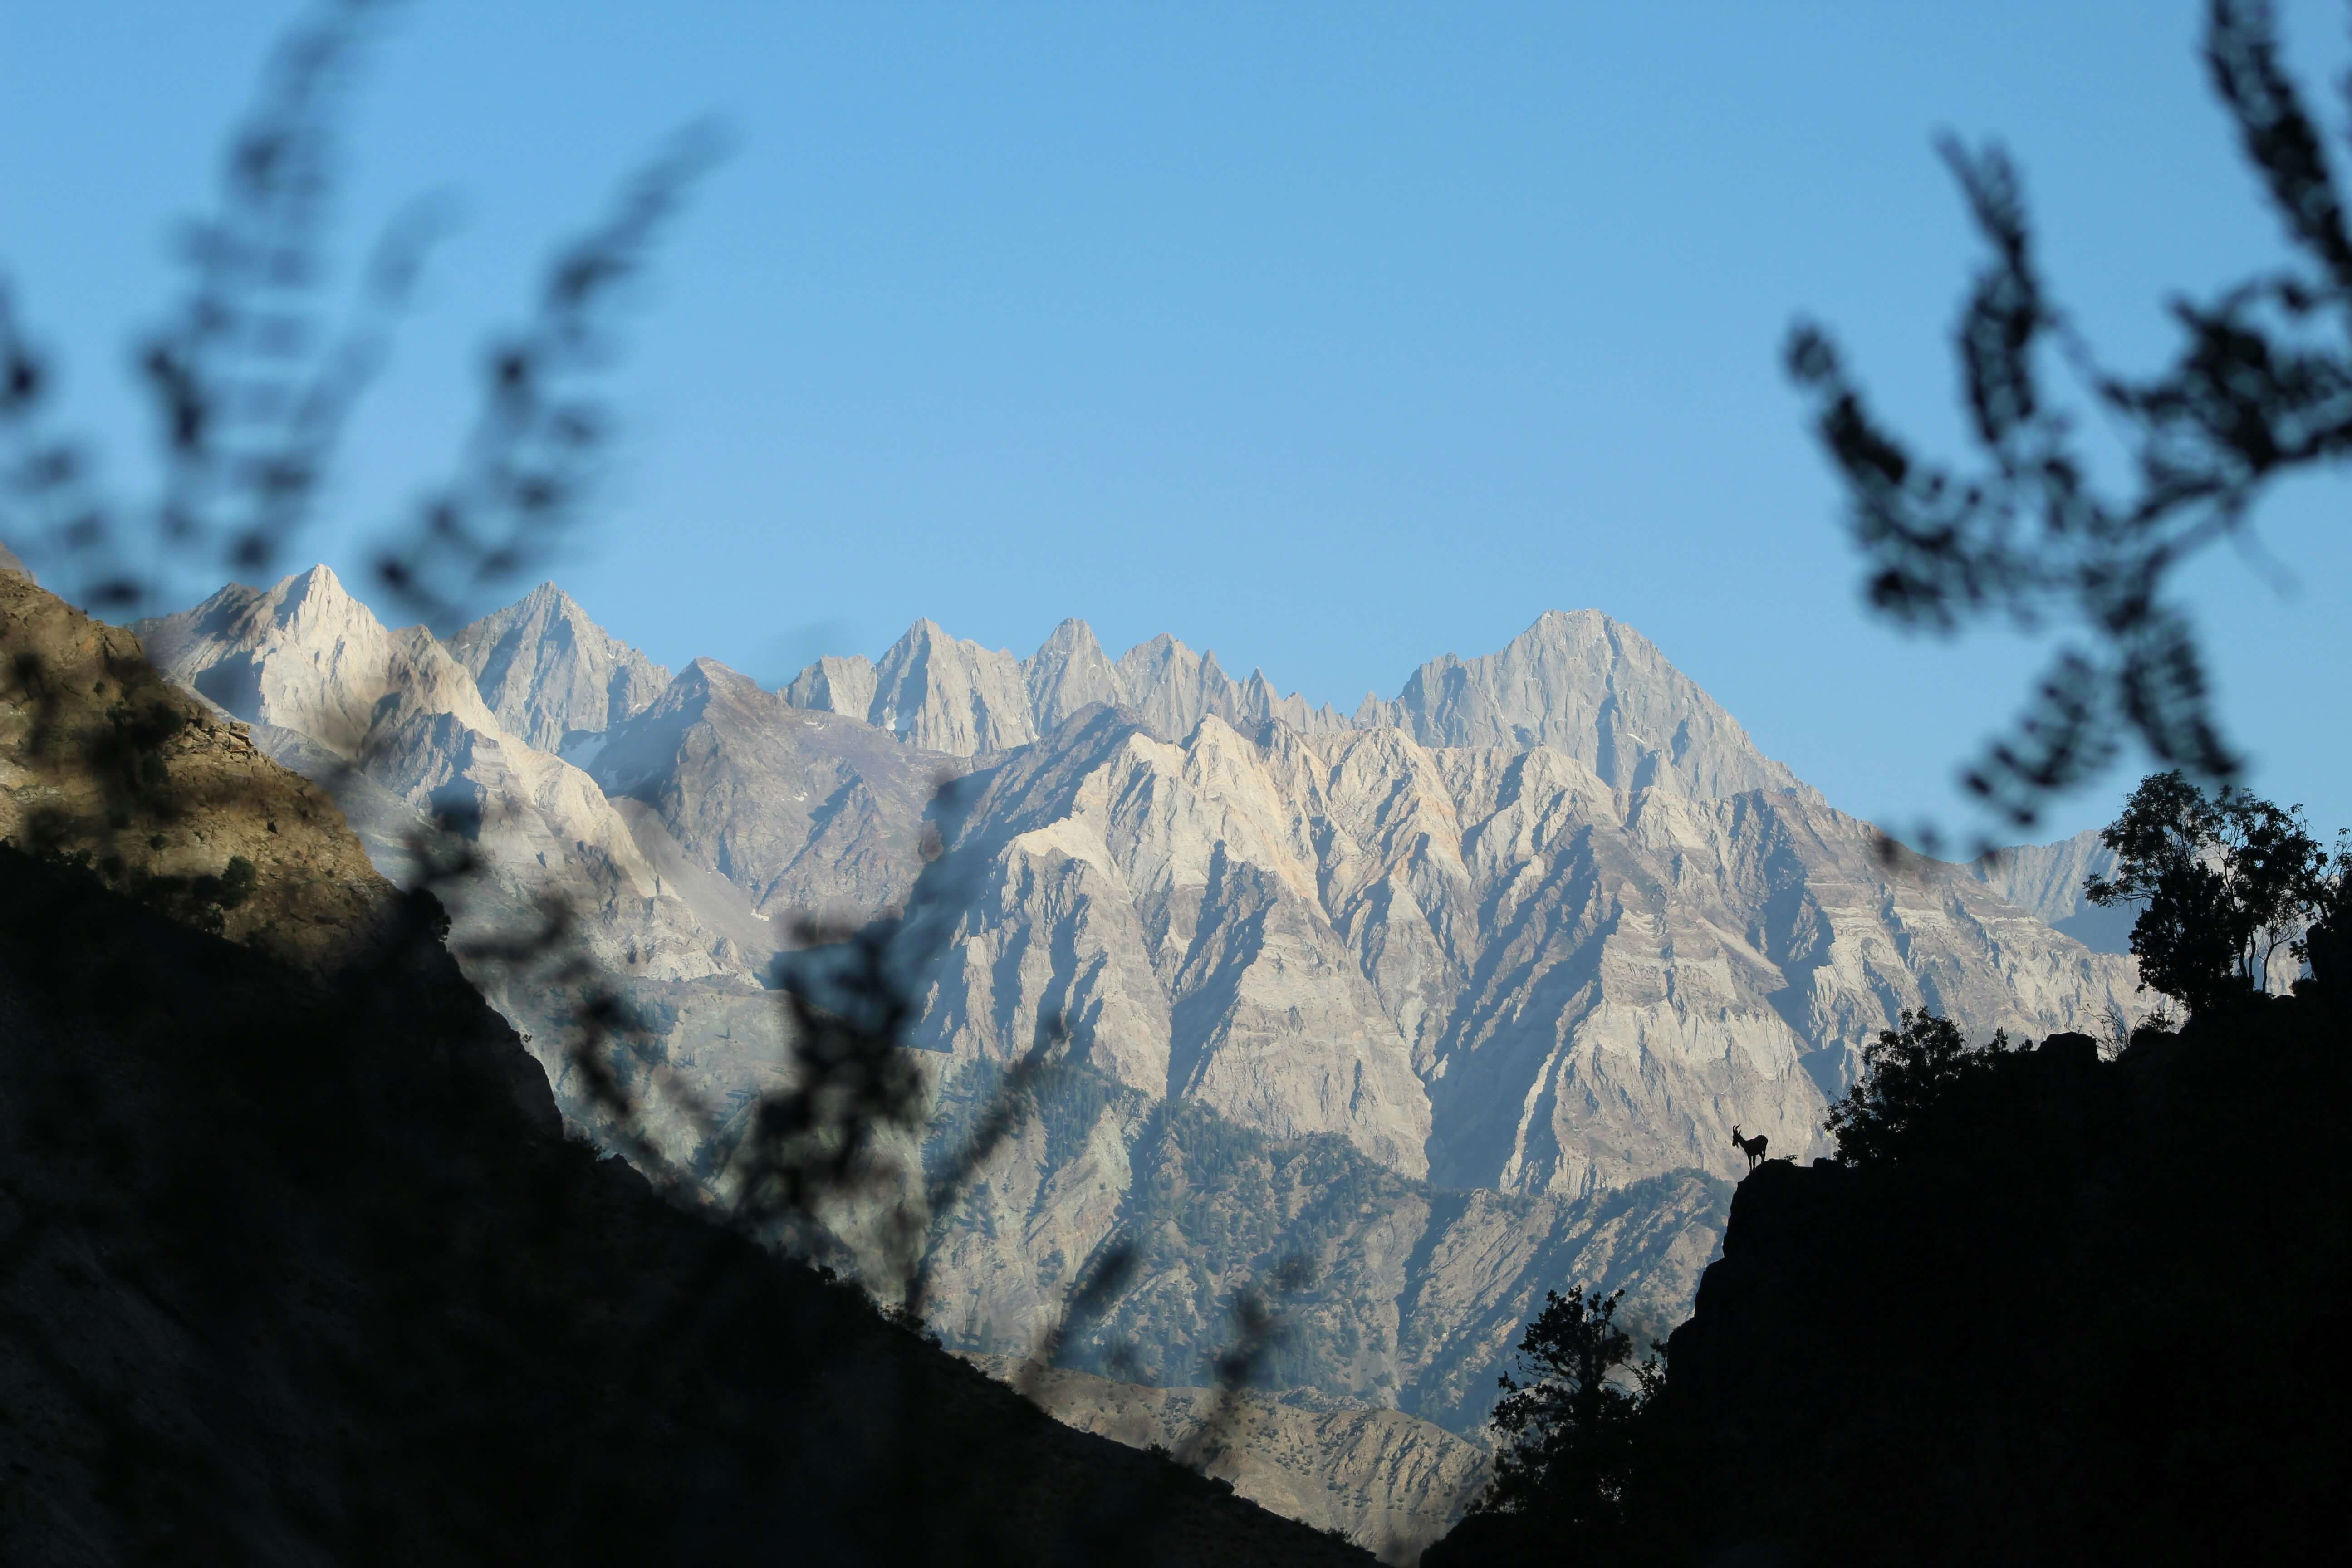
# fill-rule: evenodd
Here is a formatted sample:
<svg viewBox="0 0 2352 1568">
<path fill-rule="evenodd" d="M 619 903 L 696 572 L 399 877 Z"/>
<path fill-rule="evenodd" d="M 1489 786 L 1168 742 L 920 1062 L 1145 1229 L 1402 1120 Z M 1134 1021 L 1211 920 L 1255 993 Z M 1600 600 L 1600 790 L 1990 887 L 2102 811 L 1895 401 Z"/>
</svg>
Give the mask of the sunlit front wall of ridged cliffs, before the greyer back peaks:
<svg viewBox="0 0 2352 1568">
<path fill-rule="evenodd" d="M 2129 964 L 1952 867 L 1886 870 L 1797 792 L 1628 795 L 1550 748 L 1216 717 L 1171 745 L 1122 710 L 971 790 L 929 1041 L 1009 1058 L 1058 1020 L 1138 1088 L 1449 1185 L 1733 1175 L 1733 1124 L 1816 1147 L 1893 1011 L 2133 1004 Z"/>
</svg>

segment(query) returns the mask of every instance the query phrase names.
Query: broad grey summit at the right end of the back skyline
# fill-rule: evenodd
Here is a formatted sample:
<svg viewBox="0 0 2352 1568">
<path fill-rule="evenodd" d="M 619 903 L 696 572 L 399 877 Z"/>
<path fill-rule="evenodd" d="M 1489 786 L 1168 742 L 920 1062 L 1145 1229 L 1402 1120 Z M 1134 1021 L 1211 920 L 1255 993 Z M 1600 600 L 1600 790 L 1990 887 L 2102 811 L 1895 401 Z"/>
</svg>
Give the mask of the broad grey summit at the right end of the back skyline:
<svg viewBox="0 0 2352 1568">
<path fill-rule="evenodd" d="M 1367 698 L 1355 722 L 1395 724 L 1423 745 L 1550 745 L 1618 790 L 1818 799 L 1649 637 L 1597 609 L 1545 611 L 1484 658 L 1432 658 L 1392 703 Z"/>
</svg>

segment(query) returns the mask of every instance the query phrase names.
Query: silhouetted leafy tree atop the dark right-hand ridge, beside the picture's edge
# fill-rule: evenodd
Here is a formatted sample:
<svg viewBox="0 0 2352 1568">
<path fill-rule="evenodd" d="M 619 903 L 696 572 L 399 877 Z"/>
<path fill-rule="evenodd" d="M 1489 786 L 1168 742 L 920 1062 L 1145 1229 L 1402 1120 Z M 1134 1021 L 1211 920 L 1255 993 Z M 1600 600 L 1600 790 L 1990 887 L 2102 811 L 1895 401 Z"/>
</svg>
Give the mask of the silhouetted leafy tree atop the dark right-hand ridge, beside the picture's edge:
<svg viewBox="0 0 2352 1568">
<path fill-rule="evenodd" d="M 2331 905 L 2328 851 L 2300 818 L 2246 790 L 2204 790 L 2178 769 L 2150 773 L 2100 842 L 2112 877 L 2084 882 L 2098 905 L 2143 900 L 2131 926 L 2140 985 L 2206 1013 L 2270 987 L 2270 966 Z"/>
</svg>

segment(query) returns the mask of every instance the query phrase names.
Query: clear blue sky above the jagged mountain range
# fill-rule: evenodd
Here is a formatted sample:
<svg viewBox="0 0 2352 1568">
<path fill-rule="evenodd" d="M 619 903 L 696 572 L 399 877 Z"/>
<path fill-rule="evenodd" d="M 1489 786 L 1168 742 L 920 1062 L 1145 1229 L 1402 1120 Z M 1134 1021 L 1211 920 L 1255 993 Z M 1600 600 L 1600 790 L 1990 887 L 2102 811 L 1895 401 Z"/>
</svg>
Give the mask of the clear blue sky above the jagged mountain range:
<svg viewBox="0 0 2352 1568">
<path fill-rule="evenodd" d="M 550 244 L 717 110 L 739 150 L 635 313 L 621 482 L 555 571 L 656 658 L 774 684 L 917 616 L 1028 654 L 1075 614 L 1112 654 L 1169 630 L 1352 708 L 1590 604 L 1839 806 L 1962 827 L 1955 764 L 2034 649 L 1860 614 L 1778 346 L 1820 315 L 1903 425 L 1955 430 L 1955 129 L 2011 146 L 2053 282 L 2154 364 L 2166 294 L 2279 254 L 2199 9 L 421 0 L 358 96 L 343 256 L 419 193 L 468 221 L 303 559 L 358 583 Z M 2286 12 L 2340 113 L 2345 7 Z M 294 14 L 0 7 L 0 266 L 125 482 L 167 219 Z M 2253 783 L 2326 830 L 2352 823 L 2345 501 L 2265 510 L 2288 592 L 2232 552 L 2197 590 Z"/>
</svg>

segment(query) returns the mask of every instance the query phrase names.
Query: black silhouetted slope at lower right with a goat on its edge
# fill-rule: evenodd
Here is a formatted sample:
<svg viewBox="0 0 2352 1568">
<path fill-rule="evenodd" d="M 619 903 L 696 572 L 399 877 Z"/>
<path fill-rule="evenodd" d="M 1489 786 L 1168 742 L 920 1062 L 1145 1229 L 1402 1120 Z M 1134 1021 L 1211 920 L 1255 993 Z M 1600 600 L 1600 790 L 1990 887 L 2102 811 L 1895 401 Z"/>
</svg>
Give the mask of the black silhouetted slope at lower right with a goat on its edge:
<svg viewBox="0 0 2352 1568">
<path fill-rule="evenodd" d="M 2352 1051 L 2303 990 L 1985 1053 L 1872 1159 L 1755 1171 L 1609 1559 L 2352 1561 Z M 1430 1561 L 1564 1544 L 1486 1516 Z"/>
</svg>

